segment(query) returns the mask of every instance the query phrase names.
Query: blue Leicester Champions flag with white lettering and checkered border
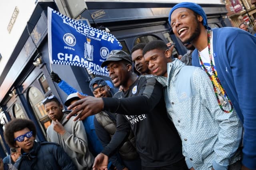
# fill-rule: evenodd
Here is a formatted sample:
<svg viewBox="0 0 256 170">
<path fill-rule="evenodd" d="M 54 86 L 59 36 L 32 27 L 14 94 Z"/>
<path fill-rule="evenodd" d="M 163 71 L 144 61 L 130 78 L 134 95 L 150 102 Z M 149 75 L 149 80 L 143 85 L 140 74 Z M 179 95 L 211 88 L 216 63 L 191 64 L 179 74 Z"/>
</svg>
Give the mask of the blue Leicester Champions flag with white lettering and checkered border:
<svg viewBox="0 0 256 170">
<path fill-rule="evenodd" d="M 112 49 L 122 45 L 108 32 L 92 28 L 48 7 L 50 62 L 86 67 L 96 75 L 108 76 L 100 65 Z"/>
</svg>

